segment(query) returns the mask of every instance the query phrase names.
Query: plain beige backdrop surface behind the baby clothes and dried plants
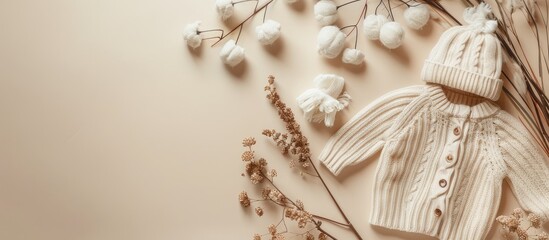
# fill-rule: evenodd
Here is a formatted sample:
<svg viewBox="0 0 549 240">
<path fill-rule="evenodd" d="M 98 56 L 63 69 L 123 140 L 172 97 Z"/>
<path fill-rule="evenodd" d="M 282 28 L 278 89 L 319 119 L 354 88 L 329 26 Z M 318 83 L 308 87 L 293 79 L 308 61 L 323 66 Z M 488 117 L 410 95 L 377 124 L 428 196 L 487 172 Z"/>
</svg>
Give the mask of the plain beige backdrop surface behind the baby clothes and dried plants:
<svg viewBox="0 0 549 240">
<path fill-rule="evenodd" d="M 406 29 L 405 44 L 393 51 L 361 35 L 366 65 L 351 68 L 316 54 L 312 1 L 277 1 L 268 17 L 282 24 L 282 39 L 264 48 L 247 25 L 239 42 L 246 63 L 230 69 L 218 57 L 221 46 L 192 52 L 182 40 L 183 26 L 194 20 L 224 26 L 213 2 L 0 1 L 0 239 L 251 239 L 279 212 L 268 208 L 258 218 L 238 204 L 240 191 L 253 192 L 240 176 L 246 136 L 258 139 L 256 151 L 278 169 L 291 196 L 340 219 L 316 181 L 301 181 L 260 136 L 264 128 L 282 129 L 264 100 L 267 75 L 277 77 L 317 155 L 367 103 L 422 84 L 422 60 L 444 27 Z M 248 11 L 238 5 L 236 18 Z M 352 23 L 356 14 L 341 21 Z M 332 129 L 305 122 L 293 100 L 319 73 L 344 76 L 354 100 Z M 376 164 L 371 159 L 337 178 L 320 169 L 366 239 L 427 239 L 368 224 Z M 500 212 L 508 213 L 517 205 L 507 187 L 504 196 Z M 490 239 L 498 236 L 492 231 Z"/>
</svg>

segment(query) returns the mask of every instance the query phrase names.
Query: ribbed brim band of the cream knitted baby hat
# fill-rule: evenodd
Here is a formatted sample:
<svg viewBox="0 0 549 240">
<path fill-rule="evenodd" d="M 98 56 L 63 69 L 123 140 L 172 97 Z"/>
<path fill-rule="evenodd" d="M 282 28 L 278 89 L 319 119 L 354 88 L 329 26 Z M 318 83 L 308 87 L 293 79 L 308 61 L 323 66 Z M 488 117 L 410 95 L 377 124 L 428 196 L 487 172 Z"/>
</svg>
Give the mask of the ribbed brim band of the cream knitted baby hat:
<svg viewBox="0 0 549 240">
<path fill-rule="evenodd" d="M 425 61 L 421 72 L 425 82 L 438 83 L 447 87 L 473 93 L 496 101 L 501 93 L 501 79 L 483 76 L 457 67 Z"/>
</svg>

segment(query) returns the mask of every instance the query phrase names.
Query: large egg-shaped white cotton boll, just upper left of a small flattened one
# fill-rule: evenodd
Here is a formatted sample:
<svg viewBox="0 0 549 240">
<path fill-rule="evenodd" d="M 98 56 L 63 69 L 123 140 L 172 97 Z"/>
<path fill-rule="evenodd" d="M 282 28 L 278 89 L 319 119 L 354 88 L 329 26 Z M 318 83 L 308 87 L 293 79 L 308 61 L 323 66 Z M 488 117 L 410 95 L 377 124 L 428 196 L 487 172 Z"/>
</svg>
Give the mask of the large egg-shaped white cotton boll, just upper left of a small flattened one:
<svg viewBox="0 0 549 240">
<path fill-rule="evenodd" d="M 317 38 L 318 53 L 326 58 L 335 58 L 345 45 L 345 33 L 336 26 L 326 26 L 320 29 Z"/>
</svg>

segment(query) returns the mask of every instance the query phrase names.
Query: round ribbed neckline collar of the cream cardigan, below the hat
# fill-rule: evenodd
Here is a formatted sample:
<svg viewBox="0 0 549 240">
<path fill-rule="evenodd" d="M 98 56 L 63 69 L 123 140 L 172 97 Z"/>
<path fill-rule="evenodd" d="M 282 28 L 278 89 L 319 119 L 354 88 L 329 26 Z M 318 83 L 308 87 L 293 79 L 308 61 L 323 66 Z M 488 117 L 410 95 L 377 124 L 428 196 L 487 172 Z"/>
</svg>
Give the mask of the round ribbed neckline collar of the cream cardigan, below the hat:
<svg viewBox="0 0 549 240">
<path fill-rule="evenodd" d="M 429 85 L 428 92 L 433 106 L 447 114 L 464 118 L 486 118 L 500 110 L 499 106 L 485 98 L 470 93 L 445 91 L 436 84 Z"/>
</svg>

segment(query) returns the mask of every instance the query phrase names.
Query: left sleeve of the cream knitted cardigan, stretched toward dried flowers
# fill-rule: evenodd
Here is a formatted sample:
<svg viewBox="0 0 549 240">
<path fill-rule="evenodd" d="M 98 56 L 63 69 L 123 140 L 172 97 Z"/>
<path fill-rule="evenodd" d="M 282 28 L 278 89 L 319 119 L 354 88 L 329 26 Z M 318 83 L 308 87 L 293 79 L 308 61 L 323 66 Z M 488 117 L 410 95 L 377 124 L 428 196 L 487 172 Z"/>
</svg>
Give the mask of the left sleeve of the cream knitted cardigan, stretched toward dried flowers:
<svg viewBox="0 0 549 240">
<path fill-rule="evenodd" d="M 394 120 L 425 86 L 393 90 L 364 107 L 326 143 L 320 161 L 335 175 L 379 151 Z"/>
</svg>

